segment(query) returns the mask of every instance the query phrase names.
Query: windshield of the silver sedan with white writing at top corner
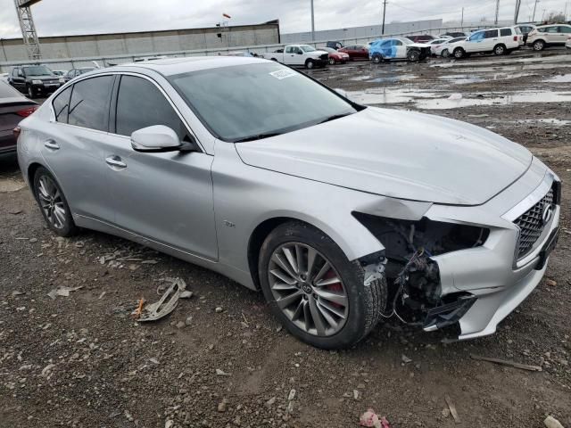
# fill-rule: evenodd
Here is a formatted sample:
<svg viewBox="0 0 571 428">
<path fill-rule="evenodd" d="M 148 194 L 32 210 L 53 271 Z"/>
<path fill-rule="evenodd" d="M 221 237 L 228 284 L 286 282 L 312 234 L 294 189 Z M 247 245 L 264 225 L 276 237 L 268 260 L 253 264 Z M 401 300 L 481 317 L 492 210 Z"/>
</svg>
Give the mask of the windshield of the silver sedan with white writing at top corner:
<svg viewBox="0 0 571 428">
<path fill-rule="evenodd" d="M 229 142 L 254 140 L 356 112 L 301 72 L 275 62 L 170 76 L 203 124 Z"/>
</svg>

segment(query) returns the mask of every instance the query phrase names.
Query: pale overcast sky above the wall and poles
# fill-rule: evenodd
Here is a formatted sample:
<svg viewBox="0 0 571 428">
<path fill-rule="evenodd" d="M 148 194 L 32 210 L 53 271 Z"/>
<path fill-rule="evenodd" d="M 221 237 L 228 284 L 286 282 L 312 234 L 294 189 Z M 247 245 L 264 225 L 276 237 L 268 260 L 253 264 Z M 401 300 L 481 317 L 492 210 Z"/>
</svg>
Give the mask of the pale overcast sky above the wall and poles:
<svg viewBox="0 0 571 428">
<path fill-rule="evenodd" d="M 571 15 L 571 0 L 542 0 L 537 4 L 536 20 L 543 10 Z M 315 0 L 315 26 L 339 29 L 378 24 L 381 0 Z M 515 0 L 501 0 L 500 19 L 513 18 Z M 464 20 L 490 20 L 495 13 L 495 0 L 389 0 L 386 22 L 418 21 L 443 18 L 459 21 L 465 6 Z M 534 0 L 522 0 L 520 21 L 527 21 Z M 44 0 L 32 6 L 39 36 L 59 36 L 151 29 L 188 29 L 211 27 L 223 20 L 222 13 L 232 19 L 230 25 L 260 23 L 279 19 L 282 33 L 310 30 L 310 0 Z M 0 0 L 0 38 L 21 35 L 13 0 Z"/>
</svg>

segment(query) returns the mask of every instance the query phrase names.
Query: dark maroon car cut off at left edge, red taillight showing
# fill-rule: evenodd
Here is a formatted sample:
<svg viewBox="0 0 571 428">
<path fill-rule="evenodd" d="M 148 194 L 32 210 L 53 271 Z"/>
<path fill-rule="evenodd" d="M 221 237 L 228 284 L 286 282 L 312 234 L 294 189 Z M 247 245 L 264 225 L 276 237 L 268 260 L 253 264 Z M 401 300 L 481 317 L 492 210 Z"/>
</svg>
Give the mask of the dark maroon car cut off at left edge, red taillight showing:
<svg viewBox="0 0 571 428">
<path fill-rule="evenodd" d="M 0 155 L 16 152 L 13 129 L 37 109 L 37 103 L 0 81 Z"/>
</svg>

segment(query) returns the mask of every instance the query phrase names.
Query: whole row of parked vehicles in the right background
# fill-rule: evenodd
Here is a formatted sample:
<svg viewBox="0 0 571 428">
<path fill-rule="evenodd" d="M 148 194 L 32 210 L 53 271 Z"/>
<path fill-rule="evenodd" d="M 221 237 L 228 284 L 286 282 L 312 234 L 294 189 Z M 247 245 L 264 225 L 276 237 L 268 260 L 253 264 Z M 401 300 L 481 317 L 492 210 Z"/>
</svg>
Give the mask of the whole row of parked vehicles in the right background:
<svg viewBox="0 0 571 428">
<path fill-rule="evenodd" d="M 535 26 L 522 24 L 496 29 L 481 29 L 470 34 L 448 32 L 433 37 L 417 35 L 408 37 L 384 37 L 368 45 L 343 45 L 338 41 L 327 42 L 327 47 L 316 49 L 310 45 L 287 45 L 271 53 L 262 53 L 263 58 L 308 69 L 325 67 L 327 64 L 355 60 L 388 62 L 393 60 L 422 61 L 429 55 L 465 58 L 472 53 L 505 55 L 523 45 L 534 51 L 550 46 L 567 45 L 571 48 L 571 25 L 551 24 Z"/>
</svg>

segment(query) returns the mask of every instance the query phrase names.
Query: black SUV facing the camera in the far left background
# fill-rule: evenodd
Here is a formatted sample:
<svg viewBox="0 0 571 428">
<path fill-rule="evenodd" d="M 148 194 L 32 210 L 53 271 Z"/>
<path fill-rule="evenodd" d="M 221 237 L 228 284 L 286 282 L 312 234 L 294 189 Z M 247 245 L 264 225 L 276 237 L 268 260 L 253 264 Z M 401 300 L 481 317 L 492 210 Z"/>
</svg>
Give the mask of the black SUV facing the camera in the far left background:
<svg viewBox="0 0 571 428">
<path fill-rule="evenodd" d="M 14 67 L 8 81 L 29 98 L 51 94 L 65 83 L 63 78 L 55 76 L 45 65 Z"/>
</svg>

